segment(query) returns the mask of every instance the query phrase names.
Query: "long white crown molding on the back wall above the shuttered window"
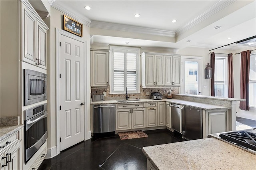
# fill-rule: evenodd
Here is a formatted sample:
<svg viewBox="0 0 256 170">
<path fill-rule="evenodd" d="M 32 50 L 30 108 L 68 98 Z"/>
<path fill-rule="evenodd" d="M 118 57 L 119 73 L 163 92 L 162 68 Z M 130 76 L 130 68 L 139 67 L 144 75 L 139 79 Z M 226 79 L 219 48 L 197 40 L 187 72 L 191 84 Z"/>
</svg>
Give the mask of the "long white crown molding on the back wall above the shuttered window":
<svg viewBox="0 0 256 170">
<path fill-rule="evenodd" d="M 115 30 L 115 31 L 126 31 L 126 32 L 136 32 L 142 34 L 151 34 L 157 36 L 167 36 L 167 37 L 174 37 L 175 32 L 168 31 L 168 30 L 159 30 L 154 28 L 145 28 L 145 27 L 138 27 L 138 26 L 129 26 L 125 24 L 115 24 L 110 22 L 100 22 L 92 20 L 91 28 L 102 28 L 108 30 Z"/>
</svg>

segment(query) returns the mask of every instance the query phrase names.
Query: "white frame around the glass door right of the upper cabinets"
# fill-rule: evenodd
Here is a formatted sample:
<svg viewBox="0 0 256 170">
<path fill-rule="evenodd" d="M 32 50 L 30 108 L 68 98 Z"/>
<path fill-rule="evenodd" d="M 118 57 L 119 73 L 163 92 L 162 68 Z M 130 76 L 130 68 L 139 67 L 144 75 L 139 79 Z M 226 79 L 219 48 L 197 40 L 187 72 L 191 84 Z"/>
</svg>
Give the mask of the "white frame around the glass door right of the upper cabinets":
<svg viewBox="0 0 256 170">
<path fill-rule="evenodd" d="M 181 56 L 181 62 L 182 62 L 182 65 L 181 65 L 181 79 L 182 79 L 182 81 L 181 81 L 180 93 L 181 94 L 185 93 L 185 80 L 183 80 L 183 79 L 185 79 L 185 73 L 184 73 L 185 70 L 184 70 L 184 63 L 183 63 L 184 59 L 185 60 L 186 59 L 198 59 L 198 60 L 200 60 L 200 63 L 199 63 L 200 68 L 199 69 L 201 71 L 200 72 L 201 75 L 199 76 L 199 74 L 198 74 L 198 80 L 200 80 L 200 87 L 198 86 L 198 92 L 200 91 L 201 94 L 198 94 L 198 95 L 202 95 L 202 75 L 204 75 L 203 69 L 202 69 L 202 57 L 186 56 L 186 55 Z"/>
</svg>

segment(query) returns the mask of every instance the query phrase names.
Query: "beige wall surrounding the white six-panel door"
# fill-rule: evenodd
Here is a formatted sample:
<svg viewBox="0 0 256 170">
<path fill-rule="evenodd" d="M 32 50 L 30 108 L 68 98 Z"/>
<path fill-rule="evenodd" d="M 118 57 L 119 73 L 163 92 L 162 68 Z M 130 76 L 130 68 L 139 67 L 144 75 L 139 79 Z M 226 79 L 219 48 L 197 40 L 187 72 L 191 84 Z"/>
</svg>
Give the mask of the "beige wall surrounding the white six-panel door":
<svg viewBox="0 0 256 170">
<path fill-rule="evenodd" d="M 52 148 L 56 146 L 56 28 L 62 30 L 62 20 L 63 13 L 56 10 L 55 8 L 51 8 L 51 16 L 50 16 L 50 40 L 48 38 L 48 43 L 50 43 L 50 47 L 48 47 L 48 57 L 47 57 L 47 75 L 48 75 L 48 84 L 50 87 L 48 89 L 48 115 L 50 117 L 48 121 L 48 148 Z M 72 16 L 70 16 L 72 17 Z M 78 20 L 78 22 L 80 22 Z M 71 33 L 70 33 L 71 34 Z M 90 33 L 89 27 L 85 24 L 83 25 L 83 37 L 86 43 L 86 56 L 90 58 Z M 86 61 L 86 60 L 85 60 Z M 90 65 L 90 63 L 88 63 Z M 88 78 L 86 78 L 85 84 L 89 83 L 90 85 L 90 67 L 86 67 Z M 87 87 L 89 87 L 89 85 Z M 85 89 L 85 91 L 90 91 L 90 87 Z M 88 98 L 88 102 L 90 105 L 90 93 L 86 96 Z M 90 116 L 90 107 L 86 110 L 86 114 Z M 88 130 L 90 130 L 90 119 L 86 123 Z"/>
</svg>

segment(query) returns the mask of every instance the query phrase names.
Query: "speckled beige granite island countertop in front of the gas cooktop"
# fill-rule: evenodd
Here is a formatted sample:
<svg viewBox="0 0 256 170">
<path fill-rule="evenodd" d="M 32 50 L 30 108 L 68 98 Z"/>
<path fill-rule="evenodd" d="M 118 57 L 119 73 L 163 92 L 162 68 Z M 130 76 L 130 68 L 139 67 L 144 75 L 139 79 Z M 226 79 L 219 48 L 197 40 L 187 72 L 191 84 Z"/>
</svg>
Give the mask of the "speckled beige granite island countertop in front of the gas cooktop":
<svg viewBox="0 0 256 170">
<path fill-rule="evenodd" d="M 142 152 L 156 170 L 256 167 L 256 155 L 216 138 L 147 146 Z"/>
</svg>

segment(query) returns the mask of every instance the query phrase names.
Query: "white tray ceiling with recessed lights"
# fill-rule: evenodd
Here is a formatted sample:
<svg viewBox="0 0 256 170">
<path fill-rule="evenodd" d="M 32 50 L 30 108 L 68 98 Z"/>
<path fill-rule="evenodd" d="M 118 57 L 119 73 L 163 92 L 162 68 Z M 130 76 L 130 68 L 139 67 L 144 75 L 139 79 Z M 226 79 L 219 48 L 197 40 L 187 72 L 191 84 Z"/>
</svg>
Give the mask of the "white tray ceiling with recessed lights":
<svg viewBox="0 0 256 170">
<path fill-rule="evenodd" d="M 212 49 L 256 35 L 255 0 L 56 0 L 52 6 L 91 30 L 127 32 L 91 33 L 91 45 Z M 172 23 L 174 19 L 177 22 Z"/>
</svg>

